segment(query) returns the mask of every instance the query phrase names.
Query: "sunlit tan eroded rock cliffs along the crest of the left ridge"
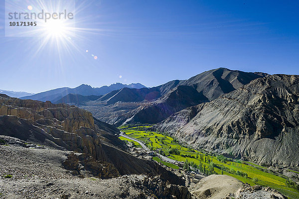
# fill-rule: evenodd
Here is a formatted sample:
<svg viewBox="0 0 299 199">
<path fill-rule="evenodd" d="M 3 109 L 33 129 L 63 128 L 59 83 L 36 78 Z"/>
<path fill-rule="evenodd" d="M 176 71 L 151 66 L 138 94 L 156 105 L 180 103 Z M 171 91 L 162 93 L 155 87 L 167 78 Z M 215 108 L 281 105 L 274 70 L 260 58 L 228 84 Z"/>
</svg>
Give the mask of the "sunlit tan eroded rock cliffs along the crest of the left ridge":
<svg viewBox="0 0 299 199">
<path fill-rule="evenodd" d="M 52 125 L 68 132 L 81 126 L 95 129 L 91 112 L 67 104 L 52 104 L 50 101 L 20 100 L 0 96 L 0 115 L 14 115 L 36 122 L 47 119 Z"/>
</svg>

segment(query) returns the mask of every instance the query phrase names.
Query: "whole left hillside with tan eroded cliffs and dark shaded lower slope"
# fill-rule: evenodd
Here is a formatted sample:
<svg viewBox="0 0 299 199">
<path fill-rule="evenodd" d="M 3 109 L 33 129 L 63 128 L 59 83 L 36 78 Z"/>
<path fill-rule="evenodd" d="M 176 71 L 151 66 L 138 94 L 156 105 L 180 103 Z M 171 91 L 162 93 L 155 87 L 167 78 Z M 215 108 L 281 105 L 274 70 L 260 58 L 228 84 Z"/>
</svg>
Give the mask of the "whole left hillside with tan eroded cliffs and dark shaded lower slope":
<svg viewBox="0 0 299 199">
<path fill-rule="evenodd" d="M 84 170 L 104 179 L 150 173 L 161 175 L 172 184 L 184 184 L 153 161 L 126 152 L 127 146 L 118 134 L 115 126 L 95 119 L 90 112 L 76 106 L 0 95 L 0 135 L 77 152 L 63 163 L 74 175 L 83 170 L 78 167 L 79 161 Z"/>
</svg>

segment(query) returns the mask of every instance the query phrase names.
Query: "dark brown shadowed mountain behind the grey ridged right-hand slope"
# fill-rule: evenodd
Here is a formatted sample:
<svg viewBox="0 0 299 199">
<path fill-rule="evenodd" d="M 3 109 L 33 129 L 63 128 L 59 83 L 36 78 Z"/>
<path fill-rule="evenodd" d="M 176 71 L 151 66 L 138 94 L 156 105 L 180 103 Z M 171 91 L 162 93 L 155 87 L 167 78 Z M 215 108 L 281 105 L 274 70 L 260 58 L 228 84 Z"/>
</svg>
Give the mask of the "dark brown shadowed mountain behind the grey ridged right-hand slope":
<svg viewBox="0 0 299 199">
<path fill-rule="evenodd" d="M 158 123 L 186 107 L 215 100 L 267 75 L 219 68 L 150 89 L 113 91 L 82 107 L 97 118 L 116 125 Z"/>
</svg>

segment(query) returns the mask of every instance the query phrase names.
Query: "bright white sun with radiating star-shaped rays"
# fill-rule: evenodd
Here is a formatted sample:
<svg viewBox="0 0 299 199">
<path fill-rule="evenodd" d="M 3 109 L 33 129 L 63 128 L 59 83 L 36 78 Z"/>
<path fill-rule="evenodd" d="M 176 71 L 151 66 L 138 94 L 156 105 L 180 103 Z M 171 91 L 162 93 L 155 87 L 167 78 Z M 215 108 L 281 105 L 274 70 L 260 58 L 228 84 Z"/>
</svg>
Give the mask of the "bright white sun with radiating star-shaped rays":
<svg viewBox="0 0 299 199">
<path fill-rule="evenodd" d="M 45 49 L 48 52 L 55 51 L 59 56 L 60 63 L 64 59 L 62 54 L 66 53 L 70 59 L 75 60 L 77 57 L 74 56 L 74 51 L 85 57 L 90 56 L 85 53 L 85 47 L 78 45 L 80 42 L 77 41 L 90 39 L 88 35 L 100 34 L 101 30 L 80 27 L 80 24 L 84 25 L 85 21 L 92 20 L 90 16 L 76 18 L 77 13 L 86 11 L 86 4 L 89 3 L 86 0 L 77 5 L 75 5 L 75 0 L 6 0 L 5 15 L 7 12 L 10 13 L 9 16 L 17 16 L 19 21 L 34 21 L 37 25 L 8 27 L 5 35 L 34 38 L 30 44 L 35 49 L 31 54 L 32 59 L 44 53 Z M 14 19 L 12 18 L 12 20 Z M 5 22 L 5 24 L 7 23 Z M 98 56 L 94 55 L 91 58 L 97 60 Z"/>
</svg>

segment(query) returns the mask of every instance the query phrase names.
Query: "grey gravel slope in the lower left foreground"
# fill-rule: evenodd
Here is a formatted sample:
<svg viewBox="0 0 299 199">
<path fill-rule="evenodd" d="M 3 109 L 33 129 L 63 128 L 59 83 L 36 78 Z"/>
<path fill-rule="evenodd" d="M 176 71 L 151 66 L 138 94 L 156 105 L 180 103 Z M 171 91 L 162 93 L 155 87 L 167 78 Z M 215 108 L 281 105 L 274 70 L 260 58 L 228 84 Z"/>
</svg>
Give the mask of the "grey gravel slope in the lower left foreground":
<svg viewBox="0 0 299 199">
<path fill-rule="evenodd" d="M 129 199 L 143 193 L 143 175 L 73 176 L 62 167 L 69 153 L 34 144 L 0 145 L 0 199 Z"/>
</svg>

